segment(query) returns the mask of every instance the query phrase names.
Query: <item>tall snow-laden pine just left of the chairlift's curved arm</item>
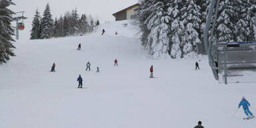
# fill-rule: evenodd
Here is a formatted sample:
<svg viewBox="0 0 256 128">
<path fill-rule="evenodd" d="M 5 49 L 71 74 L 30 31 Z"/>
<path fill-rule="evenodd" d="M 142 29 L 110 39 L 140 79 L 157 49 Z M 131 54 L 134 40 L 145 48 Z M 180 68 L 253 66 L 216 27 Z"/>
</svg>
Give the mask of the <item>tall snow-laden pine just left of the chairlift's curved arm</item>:
<svg viewBox="0 0 256 128">
<path fill-rule="evenodd" d="M 181 20 L 185 25 L 184 36 L 182 37 L 181 47 L 183 48 L 183 57 L 193 52 L 198 53 L 198 46 L 201 43 L 199 33 L 201 24 L 200 7 L 196 5 L 195 0 L 187 0 L 184 4 L 186 11 L 181 16 Z"/>
</svg>

